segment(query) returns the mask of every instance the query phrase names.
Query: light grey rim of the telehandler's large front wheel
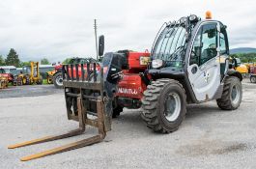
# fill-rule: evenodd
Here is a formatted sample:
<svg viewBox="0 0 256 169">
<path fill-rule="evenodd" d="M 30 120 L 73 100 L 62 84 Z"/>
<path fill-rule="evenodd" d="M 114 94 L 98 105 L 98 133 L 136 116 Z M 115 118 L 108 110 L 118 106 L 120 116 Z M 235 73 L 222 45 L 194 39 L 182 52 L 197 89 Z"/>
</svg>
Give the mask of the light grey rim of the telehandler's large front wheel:
<svg viewBox="0 0 256 169">
<path fill-rule="evenodd" d="M 164 116 L 167 121 L 174 122 L 181 112 L 181 98 L 176 93 L 171 93 L 165 100 Z"/>
</svg>

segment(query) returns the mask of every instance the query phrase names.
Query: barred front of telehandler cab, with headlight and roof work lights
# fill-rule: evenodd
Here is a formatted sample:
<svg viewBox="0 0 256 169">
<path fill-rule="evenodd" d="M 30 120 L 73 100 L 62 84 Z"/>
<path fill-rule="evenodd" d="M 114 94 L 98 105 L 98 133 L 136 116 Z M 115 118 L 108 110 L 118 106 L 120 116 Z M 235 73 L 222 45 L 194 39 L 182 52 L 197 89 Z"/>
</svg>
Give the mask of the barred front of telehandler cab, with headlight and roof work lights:
<svg viewBox="0 0 256 169">
<path fill-rule="evenodd" d="M 171 67 L 179 70 L 184 67 L 187 42 L 200 20 L 200 17 L 191 14 L 162 25 L 151 52 L 152 69 Z"/>
</svg>

